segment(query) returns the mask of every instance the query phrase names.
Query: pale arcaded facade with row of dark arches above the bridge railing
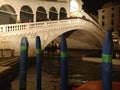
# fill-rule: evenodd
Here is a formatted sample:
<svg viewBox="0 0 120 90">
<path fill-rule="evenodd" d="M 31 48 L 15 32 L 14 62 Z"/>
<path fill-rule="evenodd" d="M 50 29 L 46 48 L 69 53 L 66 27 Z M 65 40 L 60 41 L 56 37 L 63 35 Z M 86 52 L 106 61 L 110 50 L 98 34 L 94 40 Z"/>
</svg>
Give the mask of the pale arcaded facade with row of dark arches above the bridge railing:
<svg viewBox="0 0 120 90">
<path fill-rule="evenodd" d="M 82 1 L 77 3 L 77 11 L 80 11 Z M 0 0 L 0 24 L 57 20 L 69 16 L 70 0 Z"/>
</svg>

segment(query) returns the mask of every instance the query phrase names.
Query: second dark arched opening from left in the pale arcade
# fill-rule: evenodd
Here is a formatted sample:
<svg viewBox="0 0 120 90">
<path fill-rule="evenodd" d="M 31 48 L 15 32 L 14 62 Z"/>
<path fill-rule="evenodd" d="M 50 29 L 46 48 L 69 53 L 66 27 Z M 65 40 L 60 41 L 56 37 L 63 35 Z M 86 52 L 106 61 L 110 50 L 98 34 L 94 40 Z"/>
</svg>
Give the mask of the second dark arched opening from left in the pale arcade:
<svg viewBox="0 0 120 90">
<path fill-rule="evenodd" d="M 20 11 L 21 22 L 33 22 L 33 11 L 29 6 L 23 6 Z"/>
</svg>

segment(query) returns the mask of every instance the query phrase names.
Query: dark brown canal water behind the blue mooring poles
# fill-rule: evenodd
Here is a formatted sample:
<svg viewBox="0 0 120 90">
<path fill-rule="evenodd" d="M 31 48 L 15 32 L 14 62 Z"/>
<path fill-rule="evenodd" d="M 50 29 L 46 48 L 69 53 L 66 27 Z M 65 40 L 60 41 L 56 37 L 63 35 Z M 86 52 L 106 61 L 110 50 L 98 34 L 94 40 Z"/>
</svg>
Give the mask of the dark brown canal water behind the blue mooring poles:
<svg viewBox="0 0 120 90">
<path fill-rule="evenodd" d="M 101 63 L 83 61 L 83 56 L 97 56 L 100 53 L 81 50 L 68 50 L 68 84 L 69 87 L 82 85 L 91 80 L 101 80 Z M 28 60 L 29 62 L 29 60 Z M 113 81 L 120 82 L 120 66 L 113 66 Z M 42 55 L 42 90 L 61 90 L 59 51 Z M 19 90 L 19 76 L 12 81 L 11 90 Z M 36 90 L 35 58 L 27 70 L 27 90 Z"/>
</svg>

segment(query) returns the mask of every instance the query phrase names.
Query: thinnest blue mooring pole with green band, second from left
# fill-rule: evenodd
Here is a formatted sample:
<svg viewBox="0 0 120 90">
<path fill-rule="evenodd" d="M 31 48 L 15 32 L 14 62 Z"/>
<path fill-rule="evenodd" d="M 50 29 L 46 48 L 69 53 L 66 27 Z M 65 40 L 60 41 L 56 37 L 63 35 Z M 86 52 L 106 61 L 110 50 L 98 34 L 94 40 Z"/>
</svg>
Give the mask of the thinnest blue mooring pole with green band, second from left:
<svg viewBox="0 0 120 90">
<path fill-rule="evenodd" d="M 37 89 L 42 90 L 41 88 L 41 40 L 39 36 L 36 36 L 36 71 L 37 71 Z"/>
</svg>

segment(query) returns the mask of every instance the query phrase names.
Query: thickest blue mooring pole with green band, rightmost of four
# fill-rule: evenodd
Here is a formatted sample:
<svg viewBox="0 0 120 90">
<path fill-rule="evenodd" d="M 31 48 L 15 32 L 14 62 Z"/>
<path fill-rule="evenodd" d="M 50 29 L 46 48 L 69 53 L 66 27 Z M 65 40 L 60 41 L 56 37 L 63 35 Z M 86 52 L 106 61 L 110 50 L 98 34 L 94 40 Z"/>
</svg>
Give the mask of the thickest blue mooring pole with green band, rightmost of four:
<svg viewBox="0 0 120 90">
<path fill-rule="evenodd" d="M 102 48 L 102 86 L 103 90 L 112 90 L 112 31 L 105 33 Z"/>
</svg>

